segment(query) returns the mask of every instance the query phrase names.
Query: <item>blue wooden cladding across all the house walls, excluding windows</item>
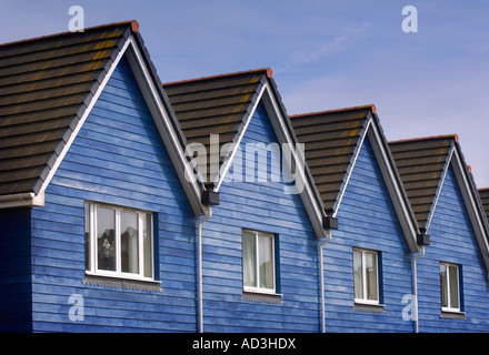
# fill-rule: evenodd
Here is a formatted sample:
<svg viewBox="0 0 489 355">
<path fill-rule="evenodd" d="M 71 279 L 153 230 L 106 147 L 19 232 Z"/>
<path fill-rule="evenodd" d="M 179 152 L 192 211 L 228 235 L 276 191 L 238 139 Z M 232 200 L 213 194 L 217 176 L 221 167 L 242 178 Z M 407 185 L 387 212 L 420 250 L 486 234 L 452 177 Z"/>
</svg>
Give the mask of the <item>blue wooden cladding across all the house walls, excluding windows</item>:
<svg viewBox="0 0 489 355">
<path fill-rule="evenodd" d="M 122 57 L 47 187 L 44 205 L 0 210 L 0 331 L 198 331 L 198 217 L 144 100 Z M 250 163 L 246 144 L 267 156 L 261 169 L 277 172 L 280 162 L 267 151 L 279 142 L 271 120 L 259 102 L 234 156 L 242 164 L 231 164 L 230 176 Z M 301 196 L 285 193 L 291 183 L 283 171 L 267 181 L 222 182 L 219 204 L 202 225 L 206 332 L 321 332 L 321 283 L 327 332 L 416 331 L 415 255 L 372 145 L 367 136 L 360 146 L 322 260 Z M 151 282 L 90 278 L 87 202 L 152 213 Z M 244 291 L 246 230 L 273 237 L 275 292 Z M 488 273 L 452 168 L 428 234 L 431 244 L 418 260 L 419 331 L 488 332 Z M 378 302 L 356 302 L 355 248 L 377 255 Z M 455 316 L 441 310 L 440 262 L 459 266 Z"/>
</svg>

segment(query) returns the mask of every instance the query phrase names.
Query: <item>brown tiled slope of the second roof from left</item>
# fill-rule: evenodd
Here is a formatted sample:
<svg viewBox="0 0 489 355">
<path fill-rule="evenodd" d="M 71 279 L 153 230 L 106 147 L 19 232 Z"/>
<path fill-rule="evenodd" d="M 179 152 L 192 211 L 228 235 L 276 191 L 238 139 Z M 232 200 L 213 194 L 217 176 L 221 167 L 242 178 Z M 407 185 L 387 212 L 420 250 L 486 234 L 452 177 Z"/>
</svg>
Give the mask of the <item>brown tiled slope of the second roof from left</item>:
<svg viewBox="0 0 489 355">
<path fill-rule="evenodd" d="M 201 172 L 208 164 L 207 176 L 202 176 L 206 182 L 213 182 L 210 174 L 218 172 L 227 158 L 211 153 L 216 150 L 219 154 L 223 144 L 237 142 L 267 78 L 271 78 L 270 69 L 257 69 L 163 84 L 187 142 L 201 143 L 207 150 L 207 161 L 196 159 Z M 219 134 L 214 150 L 211 134 Z M 218 166 L 210 165 L 214 161 Z"/>
</svg>

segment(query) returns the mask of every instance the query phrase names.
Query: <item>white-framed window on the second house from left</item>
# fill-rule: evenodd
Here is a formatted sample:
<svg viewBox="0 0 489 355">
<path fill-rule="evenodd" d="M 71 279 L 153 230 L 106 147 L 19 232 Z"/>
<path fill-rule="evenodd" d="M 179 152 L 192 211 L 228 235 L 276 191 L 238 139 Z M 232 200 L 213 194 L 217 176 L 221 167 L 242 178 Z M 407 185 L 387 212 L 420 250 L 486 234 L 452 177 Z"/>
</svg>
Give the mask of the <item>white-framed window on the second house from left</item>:
<svg viewBox="0 0 489 355">
<path fill-rule="evenodd" d="M 243 231 L 243 288 L 248 292 L 276 293 L 275 236 Z"/>
</svg>

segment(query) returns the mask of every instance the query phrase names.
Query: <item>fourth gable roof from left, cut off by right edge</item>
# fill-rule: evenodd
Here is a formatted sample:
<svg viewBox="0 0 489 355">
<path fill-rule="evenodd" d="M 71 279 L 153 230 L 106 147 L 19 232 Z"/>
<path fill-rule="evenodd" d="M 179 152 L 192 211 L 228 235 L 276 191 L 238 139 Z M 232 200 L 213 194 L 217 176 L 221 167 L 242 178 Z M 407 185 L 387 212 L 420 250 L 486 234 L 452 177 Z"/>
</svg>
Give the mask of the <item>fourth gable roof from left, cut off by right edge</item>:
<svg viewBox="0 0 489 355">
<path fill-rule="evenodd" d="M 389 142 L 420 227 L 428 231 L 447 171 L 455 175 L 489 271 L 489 224 L 457 134 Z"/>
</svg>

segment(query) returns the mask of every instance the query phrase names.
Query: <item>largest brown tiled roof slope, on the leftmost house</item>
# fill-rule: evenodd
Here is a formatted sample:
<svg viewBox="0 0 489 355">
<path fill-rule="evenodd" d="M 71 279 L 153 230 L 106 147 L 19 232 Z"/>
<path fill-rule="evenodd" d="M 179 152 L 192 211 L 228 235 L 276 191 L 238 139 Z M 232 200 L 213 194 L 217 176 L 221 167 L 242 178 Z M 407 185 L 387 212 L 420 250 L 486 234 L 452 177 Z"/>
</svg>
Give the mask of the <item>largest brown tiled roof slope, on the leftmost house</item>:
<svg viewBox="0 0 489 355">
<path fill-rule="evenodd" d="M 136 21 L 0 45 L 0 195 L 38 193 Z"/>
</svg>

